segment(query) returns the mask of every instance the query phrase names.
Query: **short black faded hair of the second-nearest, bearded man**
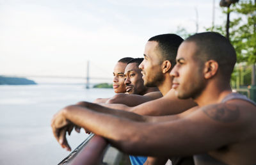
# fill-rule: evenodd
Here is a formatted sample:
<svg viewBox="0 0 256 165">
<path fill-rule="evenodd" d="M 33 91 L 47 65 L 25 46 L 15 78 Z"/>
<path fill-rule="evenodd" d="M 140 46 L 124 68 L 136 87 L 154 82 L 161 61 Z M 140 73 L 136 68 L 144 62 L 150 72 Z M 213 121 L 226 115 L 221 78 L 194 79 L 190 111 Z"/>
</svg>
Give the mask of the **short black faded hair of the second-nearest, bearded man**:
<svg viewBox="0 0 256 165">
<path fill-rule="evenodd" d="M 172 64 L 172 68 L 176 63 L 177 51 L 180 43 L 184 40 L 175 34 L 157 35 L 149 38 L 148 41 L 155 41 L 158 43 L 159 50 L 161 51 L 162 60 L 168 60 Z"/>
</svg>

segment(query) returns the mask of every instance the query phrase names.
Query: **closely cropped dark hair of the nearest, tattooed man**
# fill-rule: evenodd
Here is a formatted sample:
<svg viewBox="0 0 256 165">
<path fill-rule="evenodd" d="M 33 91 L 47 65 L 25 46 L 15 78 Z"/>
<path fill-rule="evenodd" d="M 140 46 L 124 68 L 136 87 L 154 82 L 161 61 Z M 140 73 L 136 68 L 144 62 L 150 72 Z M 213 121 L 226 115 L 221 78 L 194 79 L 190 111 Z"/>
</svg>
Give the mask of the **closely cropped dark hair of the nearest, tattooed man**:
<svg viewBox="0 0 256 165">
<path fill-rule="evenodd" d="M 197 33 L 189 36 L 185 42 L 196 43 L 196 52 L 193 58 L 202 63 L 211 59 L 216 61 L 223 78 L 230 79 L 236 64 L 236 51 L 225 36 L 216 32 Z"/>
</svg>

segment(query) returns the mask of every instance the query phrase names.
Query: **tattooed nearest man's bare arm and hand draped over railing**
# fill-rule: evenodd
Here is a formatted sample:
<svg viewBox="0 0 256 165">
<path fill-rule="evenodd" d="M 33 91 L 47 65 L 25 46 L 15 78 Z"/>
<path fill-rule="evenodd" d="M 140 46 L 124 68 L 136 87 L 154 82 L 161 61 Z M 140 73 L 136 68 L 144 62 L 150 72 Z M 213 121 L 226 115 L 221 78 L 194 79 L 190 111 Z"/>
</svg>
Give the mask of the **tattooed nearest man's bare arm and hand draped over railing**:
<svg viewBox="0 0 256 165">
<path fill-rule="evenodd" d="M 243 108 L 243 111 L 247 110 Z M 202 153 L 236 143 L 246 130 L 246 123 L 241 124 L 242 111 L 232 104 L 205 106 L 178 120 L 159 123 L 149 123 L 138 114 L 121 112 L 127 117 L 118 113 L 106 114 L 106 110 L 68 106 L 54 116 L 52 131 L 59 141 L 67 125 L 79 125 L 107 138 L 123 152 L 166 157 Z"/>
</svg>

